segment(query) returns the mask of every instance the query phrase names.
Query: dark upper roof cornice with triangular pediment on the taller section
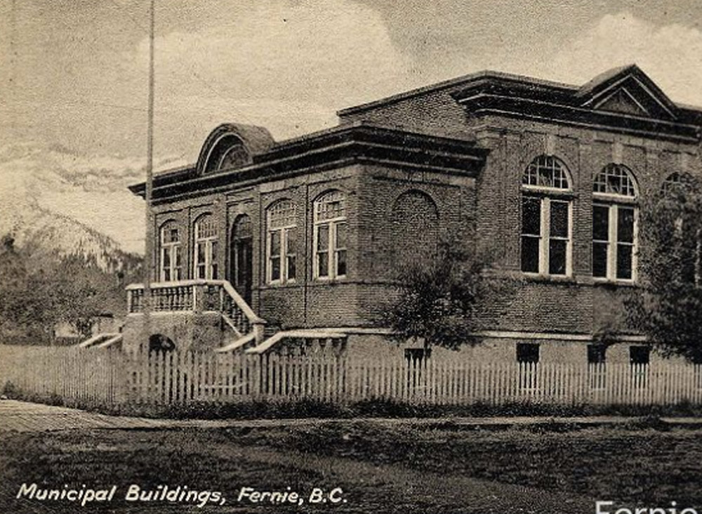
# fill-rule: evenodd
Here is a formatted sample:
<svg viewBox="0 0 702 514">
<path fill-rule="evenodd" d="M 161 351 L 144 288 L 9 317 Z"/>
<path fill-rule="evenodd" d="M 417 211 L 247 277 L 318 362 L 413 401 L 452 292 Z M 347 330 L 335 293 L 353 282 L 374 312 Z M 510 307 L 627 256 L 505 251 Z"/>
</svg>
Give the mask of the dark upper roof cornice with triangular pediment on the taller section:
<svg viewBox="0 0 702 514">
<path fill-rule="evenodd" d="M 337 114 L 342 118 L 361 117 L 364 112 L 439 91 L 451 95 L 475 115 L 495 114 L 590 127 L 679 143 L 698 143 L 701 138 L 702 108 L 674 103 L 637 65 L 608 70 L 582 86 L 501 72 L 479 72 L 349 107 Z M 602 106 L 617 91 L 623 91 L 637 103 L 637 98 L 630 94 L 634 91 L 646 105 L 639 105 L 640 112 L 611 107 L 608 110 Z"/>
</svg>

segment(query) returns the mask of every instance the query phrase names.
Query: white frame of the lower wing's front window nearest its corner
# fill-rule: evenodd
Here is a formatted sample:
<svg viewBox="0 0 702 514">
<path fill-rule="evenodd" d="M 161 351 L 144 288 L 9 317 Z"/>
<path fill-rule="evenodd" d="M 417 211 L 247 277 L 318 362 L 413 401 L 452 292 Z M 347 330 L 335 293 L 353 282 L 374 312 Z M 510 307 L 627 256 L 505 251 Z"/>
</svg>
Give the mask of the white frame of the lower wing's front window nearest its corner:
<svg viewBox="0 0 702 514">
<path fill-rule="evenodd" d="M 333 197 L 332 195 L 336 195 L 337 199 L 340 199 L 340 202 L 343 202 L 343 206 L 341 211 L 343 211 L 343 214 L 340 216 L 336 216 L 334 218 L 324 218 L 324 219 L 319 219 L 319 213 L 321 211 L 321 207 L 324 204 L 324 202 L 327 201 L 329 197 Z M 346 238 L 347 238 L 347 244 L 346 246 L 340 247 L 336 245 L 336 240 L 337 240 L 337 232 L 338 228 L 340 226 L 344 226 L 346 230 Z M 327 272 L 329 273 L 328 275 L 319 275 L 319 259 L 320 259 L 320 253 L 319 251 L 319 229 L 322 227 L 328 227 L 329 230 L 328 232 L 328 239 L 327 239 L 327 247 L 326 247 L 326 259 L 327 259 Z M 314 202 L 314 229 L 312 231 L 312 248 L 313 248 L 313 270 L 312 270 L 312 276 L 314 279 L 317 280 L 335 280 L 335 279 L 344 279 L 347 276 L 348 272 L 348 223 L 347 223 L 347 218 L 346 218 L 346 195 L 338 190 L 326 192 L 324 195 L 319 197 L 317 200 Z M 340 274 L 338 272 L 338 264 L 339 264 L 339 254 L 341 252 L 346 253 L 346 270 L 345 273 Z"/>
</svg>

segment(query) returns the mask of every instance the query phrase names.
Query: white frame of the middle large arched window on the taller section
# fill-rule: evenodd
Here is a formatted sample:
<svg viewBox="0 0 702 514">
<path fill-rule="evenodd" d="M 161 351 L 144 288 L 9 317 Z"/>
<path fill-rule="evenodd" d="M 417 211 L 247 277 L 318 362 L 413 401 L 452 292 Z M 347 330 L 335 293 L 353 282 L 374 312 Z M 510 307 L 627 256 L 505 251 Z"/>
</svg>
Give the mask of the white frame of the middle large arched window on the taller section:
<svg viewBox="0 0 702 514">
<path fill-rule="evenodd" d="M 607 276 L 606 277 L 595 277 L 594 275 L 594 251 L 592 251 L 592 244 L 595 243 L 595 235 L 592 235 L 592 242 L 591 242 L 591 252 L 592 252 L 592 279 L 595 280 L 595 282 L 617 282 L 619 284 L 634 284 L 637 282 L 638 279 L 638 274 L 637 274 L 637 268 L 638 268 L 638 249 L 639 249 L 639 208 L 638 208 L 638 203 L 637 203 L 637 198 L 638 198 L 638 187 L 636 180 L 634 178 L 634 174 L 630 169 L 628 169 L 627 166 L 624 166 L 623 164 L 616 164 L 616 166 L 621 167 L 625 171 L 625 173 L 628 175 L 628 180 L 630 180 L 630 189 L 633 192 L 633 195 L 620 195 L 617 193 L 612 193 L 612 192 L 598 192 L 595 191 L 595 185 L 594 183 L 597 181 L 597 178 L 600 177 L 602 173 L 605 172 L 605 170 L 608 168 L 608 166 L 611 166 L 612 164 L 608 164 L 607 166 L 604 166 L 604 168 L 600 171 L 600 173 L 597 173 L 595 178 L 593 179 L 593 192 L 592 192 L 592 209 L 593 209 L 593 214 L 594 216 L 594 209 L 595 206 L 598 207 L 605 207 L 608 209 L 608 218 L 607 218 L 607 223 L 609 224 L 608 230 L 607 230 Z M 629 189 L 629 187 L 628 187 Z M 633 242 L 630 244 L 631 246 L 631 278 L 630 279 L 625 279 L 625 278 L 618 278 L 616 276 L 616 270 L 617 270 L 617 263 L 618 263 L 618 245 L 623 244 L 618 241 L 618 221 L 619 221 L 619 211 L 620 209 L 633 209 L 634 212 L 634 226 L 633 226 Z M 597 240 L 597 242 L 604 242 L 601 241 L 600 239 Z M 628 244 L 628 243 L 627 243 Z"/>
</svg>

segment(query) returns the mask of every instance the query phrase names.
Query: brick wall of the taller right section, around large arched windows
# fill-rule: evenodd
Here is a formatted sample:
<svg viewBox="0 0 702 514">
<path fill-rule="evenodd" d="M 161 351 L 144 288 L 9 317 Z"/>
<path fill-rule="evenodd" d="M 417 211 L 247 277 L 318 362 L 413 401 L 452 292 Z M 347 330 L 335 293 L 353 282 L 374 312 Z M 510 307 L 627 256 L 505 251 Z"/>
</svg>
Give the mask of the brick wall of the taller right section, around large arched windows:
<svg viewBox="0 0 702 514">
<path fill-rule="evenodd" d="M 514 294 L 503 298 L 494 327 L 505 330 L 592 334 L 605 326 L 623 332 L 623 299 L 633 289 L 592 281 L 592 177 L 614 161 L 631 169 L 640 198 L 661 187 L 665 176 L 679 170 L 680 152 L 693 147 L 628 136 L 525 121 L 485 118 L 477 131 L 479 145 L 491 154 L 477 185 L 477 233 L 493 249 L 500 267 L 519 279 Z M 549 148 L 552 147 L 552 148 Z M 531 279 L 519 272 L 520 184 L 527 164 L 552 150 L 571 173 L 573 199 L 574 276 L 565 281 Z M 689 172 L 702 175 L 699 162 L 687 159 Z"/>
</svg>

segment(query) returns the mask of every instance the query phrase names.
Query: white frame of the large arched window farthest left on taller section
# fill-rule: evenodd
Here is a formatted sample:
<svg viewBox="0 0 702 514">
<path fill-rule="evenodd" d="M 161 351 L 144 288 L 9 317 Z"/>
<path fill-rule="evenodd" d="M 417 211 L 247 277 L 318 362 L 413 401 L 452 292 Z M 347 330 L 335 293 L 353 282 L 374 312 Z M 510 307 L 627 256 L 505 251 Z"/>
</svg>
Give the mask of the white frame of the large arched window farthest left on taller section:
<svg viewBox="0 0 702 514">
<path fill-rule="evenodd" d="M 556 178 L 555 181 L 559 183 L 565 183 L 566 187 L 549 187 L 542 185 L 534 185 L 531 180 L 534 177 L 533 167 L 538 166 L 538 162 L 551 159 L 546 169 L 553 171 L 562 171 L 563 176 Z M 557 164 L 559 167 L 556 167 Z M 536 175 L 538 178 L 538 174 Z M 524 216 L 524 198 L 534 198 L 538 199 L 540 204 L 540 233 L 538 236 L 538 271 L 523 271 L 524 275 L 532 277 L 545 277 L 545 278 L 569 278 L 573 276 L 573 198 L 571 190 L 571 176 L 568 171 L 567 166 L 557 157 L 551 155 L 541 155 L 536 157 L 524 170 L 522 175 L 522 195 L 520 197 L 521 204 L 519 209 Z M 565 203 L 568 205 L 568 234 L 566 241 L 566 268 L 564 274 L 551 274 L 549 272 L 549 261 L 550 261 L 550 241 L 551 239 L 563 240 L 562 237 L 551 237 L 551 202 Z M 524 223 L 519 225 L 519 268 L 522 268 L 522 239 L 524 239 L 524 232 L 522 232 Z M 528 237 L 528 236 L 527 236 Z"/>
</svg>

